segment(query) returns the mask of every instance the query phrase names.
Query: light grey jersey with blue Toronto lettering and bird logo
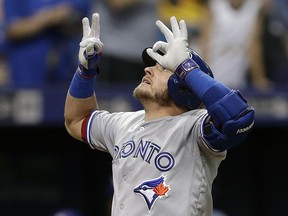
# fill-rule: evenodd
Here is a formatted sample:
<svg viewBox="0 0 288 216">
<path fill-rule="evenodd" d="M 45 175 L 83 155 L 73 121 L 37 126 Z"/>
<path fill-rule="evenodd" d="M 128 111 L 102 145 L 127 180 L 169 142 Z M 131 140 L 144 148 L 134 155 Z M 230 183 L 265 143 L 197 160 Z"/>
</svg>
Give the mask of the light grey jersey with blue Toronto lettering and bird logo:
<svg viewBox="0 0 288 216">
<path fill-rule="evenodd" d="M 84 136 L 113 157 L 112 216 L 211 216 L 212 182 L 226 151 L 202 138 L 206 110 L 144 121 L 144 111 L 95 111 Z"/>
</svg>

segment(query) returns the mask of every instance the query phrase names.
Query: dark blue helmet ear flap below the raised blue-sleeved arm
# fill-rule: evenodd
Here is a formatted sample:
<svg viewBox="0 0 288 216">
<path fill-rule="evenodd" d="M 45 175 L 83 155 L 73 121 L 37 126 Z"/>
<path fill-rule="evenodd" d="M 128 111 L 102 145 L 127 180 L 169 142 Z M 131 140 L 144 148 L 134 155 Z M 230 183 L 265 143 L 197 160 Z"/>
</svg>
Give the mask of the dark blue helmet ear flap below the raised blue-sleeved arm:
<svg viewBox="0 0 288 216">
<path fill-rule="evenodd" d="M 168 92 L 173 101 L 179 106 L 192 110 L 197 109 L 201 104 L 199 98 L 176 74 L 172 74 L 168 79 Z"/>
</svg>

